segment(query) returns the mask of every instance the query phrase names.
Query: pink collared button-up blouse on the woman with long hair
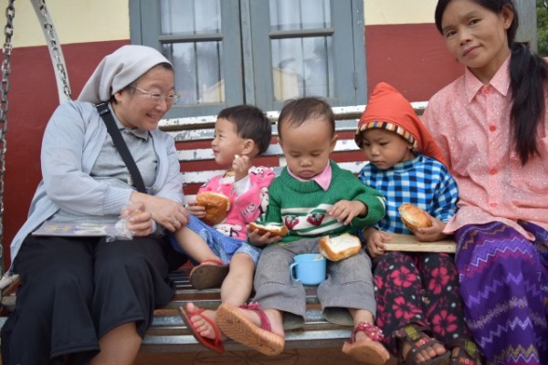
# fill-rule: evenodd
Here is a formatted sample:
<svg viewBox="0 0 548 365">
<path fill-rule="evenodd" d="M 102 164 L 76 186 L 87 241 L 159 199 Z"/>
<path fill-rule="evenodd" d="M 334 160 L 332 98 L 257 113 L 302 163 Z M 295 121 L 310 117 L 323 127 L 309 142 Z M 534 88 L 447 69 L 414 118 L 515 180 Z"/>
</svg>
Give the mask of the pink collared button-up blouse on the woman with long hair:
<svg viewBox="0 0 548 365">
<path fill-rule="evenodd" d="M 458 183 L 459 210 L 446 233 L 498 221 L 533 240 L 519 219 L 548 229 L 548 108 L 538 129 L 540 156 L 522 166 L 511 142 L 509 65 L 510 57 L 489 85 L 467 68 L 428 102 L 423 121 Z"/>
</svg>

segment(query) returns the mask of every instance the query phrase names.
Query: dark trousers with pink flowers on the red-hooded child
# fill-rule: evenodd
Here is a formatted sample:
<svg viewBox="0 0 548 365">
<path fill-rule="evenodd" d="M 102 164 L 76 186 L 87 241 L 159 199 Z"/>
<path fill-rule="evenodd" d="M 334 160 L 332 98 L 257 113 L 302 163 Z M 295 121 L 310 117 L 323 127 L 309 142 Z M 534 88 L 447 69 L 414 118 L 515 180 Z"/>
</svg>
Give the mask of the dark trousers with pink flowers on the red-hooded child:
<svg viewBox="0 0 548 365">
<path fill-rule="evenodd" d="M 439 253 L 388 252 L 374 259 L 377 326 L 387 349 L 397 354 L 395 330 L 415 324 L 448 345 L 468 339 L 458 271 L 453 256 Z"/>
</svg>

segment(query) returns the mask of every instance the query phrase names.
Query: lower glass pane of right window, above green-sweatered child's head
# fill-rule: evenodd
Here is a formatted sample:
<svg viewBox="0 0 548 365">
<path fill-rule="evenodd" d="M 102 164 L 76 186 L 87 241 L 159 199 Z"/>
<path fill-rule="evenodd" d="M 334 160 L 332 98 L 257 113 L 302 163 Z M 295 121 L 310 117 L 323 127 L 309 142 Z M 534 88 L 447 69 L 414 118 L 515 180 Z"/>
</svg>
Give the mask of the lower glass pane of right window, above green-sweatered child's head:
<svg viewBox="0 0 548 365">
<path fill-rule="evenodd" d="M 332 37 L 273 39 L 274 99 L 332 97 Z"/>
</svg>

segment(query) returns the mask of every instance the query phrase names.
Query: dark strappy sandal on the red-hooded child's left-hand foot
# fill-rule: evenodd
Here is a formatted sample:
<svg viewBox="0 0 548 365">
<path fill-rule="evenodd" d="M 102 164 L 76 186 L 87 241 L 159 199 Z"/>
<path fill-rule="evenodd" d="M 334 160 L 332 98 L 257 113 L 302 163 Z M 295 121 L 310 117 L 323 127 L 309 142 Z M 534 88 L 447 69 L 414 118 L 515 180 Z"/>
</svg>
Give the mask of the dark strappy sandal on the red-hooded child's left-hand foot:
<svg viewBox="0 0 548 365">
<path fill-rule="evenodd" d="M 443 355 L 439 355 L 434 359 L 430 359 L 424 362 L 417 362 L 416 356 L 423 349 L 431 348 L 436 344 L 442 344 L 437 339 L 432 339 L 423 330 L 426 328 L 416 327 L 414 325 L 407 325 L 395 331 L 395 337 L 407 342 L 411 345 L 411 349 L 407 352 L 406 359 L 404 361 L 403 356 L 403 344 L 399 349 L 400 363 L 406 365 L 448 365 L 450 351 L 446 351 Z"/>
</svg>

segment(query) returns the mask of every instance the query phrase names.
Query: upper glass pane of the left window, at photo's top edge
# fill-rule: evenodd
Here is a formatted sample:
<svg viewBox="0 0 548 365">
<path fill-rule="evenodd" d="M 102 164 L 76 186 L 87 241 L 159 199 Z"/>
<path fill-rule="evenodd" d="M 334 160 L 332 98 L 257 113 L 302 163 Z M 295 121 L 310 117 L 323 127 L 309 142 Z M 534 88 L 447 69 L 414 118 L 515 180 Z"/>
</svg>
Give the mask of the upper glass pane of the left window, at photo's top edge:
<svg viewBox="0 0 548 365">
<path fill-rule="evenodd" d="M 162 0 L 162 34 L 219 33 L 220 0 Z"/>
</svg>

